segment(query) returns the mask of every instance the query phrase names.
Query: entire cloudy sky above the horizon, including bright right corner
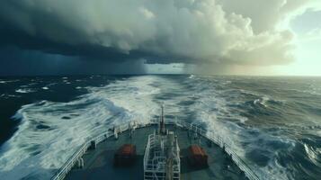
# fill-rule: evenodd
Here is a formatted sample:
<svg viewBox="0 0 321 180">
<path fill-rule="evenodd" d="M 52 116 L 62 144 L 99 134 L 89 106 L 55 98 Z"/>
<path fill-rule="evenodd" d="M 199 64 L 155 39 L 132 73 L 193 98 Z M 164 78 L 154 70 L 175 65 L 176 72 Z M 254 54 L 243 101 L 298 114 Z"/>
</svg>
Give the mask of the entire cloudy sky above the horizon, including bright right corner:
<svg viewBox="0 0 321 180">
<path fill-rule="evenodd" d="M 2 0 L 0 76 L 321 76 L 320 17 L 320 0 Z"/>
</svg>

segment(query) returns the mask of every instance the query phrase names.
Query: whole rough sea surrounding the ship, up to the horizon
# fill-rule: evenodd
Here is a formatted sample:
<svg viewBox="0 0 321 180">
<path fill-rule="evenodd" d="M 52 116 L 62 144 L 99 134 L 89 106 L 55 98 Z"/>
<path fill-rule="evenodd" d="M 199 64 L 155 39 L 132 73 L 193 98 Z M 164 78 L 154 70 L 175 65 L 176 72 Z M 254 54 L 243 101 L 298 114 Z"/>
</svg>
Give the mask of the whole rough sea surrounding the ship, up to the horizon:
<svg viewBox="0 0 321 180">
<path fill-rule="evenodd" d="M 0 179 L 49 179 L 114 124 L 215 130 L 261 179 L 320 179 L 321 77 L 0 77 Z"/>
</svg>

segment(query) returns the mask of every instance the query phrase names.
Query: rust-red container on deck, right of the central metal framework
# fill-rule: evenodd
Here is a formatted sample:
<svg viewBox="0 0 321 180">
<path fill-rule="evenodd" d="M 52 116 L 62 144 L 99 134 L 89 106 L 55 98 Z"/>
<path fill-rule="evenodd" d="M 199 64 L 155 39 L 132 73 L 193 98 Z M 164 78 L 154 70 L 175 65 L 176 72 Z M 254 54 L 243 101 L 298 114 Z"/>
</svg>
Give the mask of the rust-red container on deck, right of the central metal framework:
<svg viewBox="0 0 321 180">
<path fill-rule="evenodd" d="M 205 150 L 197 145 L 192 145 L 189 148 L 188 159 L 194 167 L 204 167 L 208 165 L 208 155 Z"/>
</svg>

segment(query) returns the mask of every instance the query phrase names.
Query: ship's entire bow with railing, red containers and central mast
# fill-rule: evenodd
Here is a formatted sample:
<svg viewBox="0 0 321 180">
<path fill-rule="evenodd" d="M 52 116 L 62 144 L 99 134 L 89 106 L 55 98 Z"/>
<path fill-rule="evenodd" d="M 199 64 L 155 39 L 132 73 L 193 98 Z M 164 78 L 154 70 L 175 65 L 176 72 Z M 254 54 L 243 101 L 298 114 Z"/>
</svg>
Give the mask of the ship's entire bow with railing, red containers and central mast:
<svg viewBox="0 0 321 180">
<path fill-rule="evenodd" d="M 259 180 L 215 131 L 159 117 L 88 139 L 51 180 Z"/>
</svg>

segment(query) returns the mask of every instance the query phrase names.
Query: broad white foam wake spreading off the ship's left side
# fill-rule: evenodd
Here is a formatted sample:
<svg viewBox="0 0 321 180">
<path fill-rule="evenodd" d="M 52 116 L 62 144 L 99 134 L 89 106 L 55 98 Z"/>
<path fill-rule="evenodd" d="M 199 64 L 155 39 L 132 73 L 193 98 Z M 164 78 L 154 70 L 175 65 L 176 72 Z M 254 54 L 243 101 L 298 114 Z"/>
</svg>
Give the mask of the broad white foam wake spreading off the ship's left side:
<svg viewBox="0 0 321 180">
<path fill-rule="evenodd" d="M 13 137 L 0 150 L 3 179 L 49 179 L 85 139 L 125 121 L 150 121 L 159 106 L 153 96 L 157 78 L 132 77 L 103 87 L 69 103 L 42 101 L 22 106 Z M 45 126 L 46 128 L 39 128 Z"/>
</svg>

